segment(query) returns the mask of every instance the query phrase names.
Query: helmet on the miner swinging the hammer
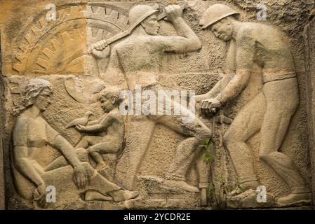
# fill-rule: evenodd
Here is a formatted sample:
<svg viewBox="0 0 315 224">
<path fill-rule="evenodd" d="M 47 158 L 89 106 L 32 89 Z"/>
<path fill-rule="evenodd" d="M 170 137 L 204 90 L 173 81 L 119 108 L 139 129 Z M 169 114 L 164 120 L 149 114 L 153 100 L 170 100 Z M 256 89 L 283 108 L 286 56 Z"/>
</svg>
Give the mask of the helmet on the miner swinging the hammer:
<svg viewBox="0 0 315 224">
<path fill-rule="evenodd" d="M 140 25 L 143 20 L 156 12 L 159 12 L 159 6 L 157 4 L 154 6 L 138 5 L 131 8 L 128 15 L 130 27 L 136 27 Z"/>
</svg>

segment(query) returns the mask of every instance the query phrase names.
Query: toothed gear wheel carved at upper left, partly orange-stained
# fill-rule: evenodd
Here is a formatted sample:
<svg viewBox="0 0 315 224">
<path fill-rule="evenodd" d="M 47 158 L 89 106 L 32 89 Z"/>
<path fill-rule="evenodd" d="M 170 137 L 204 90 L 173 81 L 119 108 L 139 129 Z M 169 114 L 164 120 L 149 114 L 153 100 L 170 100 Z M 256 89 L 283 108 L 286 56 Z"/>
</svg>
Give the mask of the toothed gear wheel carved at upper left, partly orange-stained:
<svg viewBox="0 0 315 224">
<path fill-rule="evenodd" d="M 83 73 L 88 45 L 126 30 L 128 18 L 112 6 L 69 6 L 55 21 L 39 18 L 18 41 L 13 71 Z"/>
</svg>

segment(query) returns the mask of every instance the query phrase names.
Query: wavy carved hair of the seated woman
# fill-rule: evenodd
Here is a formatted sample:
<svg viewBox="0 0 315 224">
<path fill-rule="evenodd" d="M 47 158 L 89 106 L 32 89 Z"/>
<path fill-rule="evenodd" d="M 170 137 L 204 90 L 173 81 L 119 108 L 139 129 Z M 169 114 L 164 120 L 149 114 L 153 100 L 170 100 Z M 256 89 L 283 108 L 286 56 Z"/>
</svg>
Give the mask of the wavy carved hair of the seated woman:
<svg viewBox="0 0 315 224">
<path fill-rule="evenodd" d="M 25 109 L 33 106 L 36 102 L 36 98 L 43 92 L 43 90 L 46 90 L 47 94 L 52 93 L 52 85 L 48 80 L 43 78 L 33 78 L 31 80 L 27 80 L 27 82 L 21 87 L 21 97 L 19 99 L 19 103 L 13 109 L 15 114 L 18 115 Z M 40 106 L 41 110 L 43 111 L 46 109 L 48 104 L 50 104 L 50 102 L 46 102 L 44 106 Z"/>
</svg>

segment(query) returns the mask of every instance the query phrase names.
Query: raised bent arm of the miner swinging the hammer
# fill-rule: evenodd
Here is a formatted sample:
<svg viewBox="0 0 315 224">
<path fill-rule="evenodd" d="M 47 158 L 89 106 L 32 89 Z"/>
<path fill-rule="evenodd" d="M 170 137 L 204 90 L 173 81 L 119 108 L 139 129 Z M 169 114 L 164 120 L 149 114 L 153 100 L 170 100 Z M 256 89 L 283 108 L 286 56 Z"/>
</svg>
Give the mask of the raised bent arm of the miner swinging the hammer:
<svg viewBox="0 0 315 224">
<path fill-rule="evenodd" d="M 172 22 L 179 36 L 163 36 L 161 38 L 166 45 L 166 52 L 192 52 L 201 48 L 198 36 L 182 18 L 182 8 L 177 5 L 165 8 L 168 21 Z"/>
</svg>

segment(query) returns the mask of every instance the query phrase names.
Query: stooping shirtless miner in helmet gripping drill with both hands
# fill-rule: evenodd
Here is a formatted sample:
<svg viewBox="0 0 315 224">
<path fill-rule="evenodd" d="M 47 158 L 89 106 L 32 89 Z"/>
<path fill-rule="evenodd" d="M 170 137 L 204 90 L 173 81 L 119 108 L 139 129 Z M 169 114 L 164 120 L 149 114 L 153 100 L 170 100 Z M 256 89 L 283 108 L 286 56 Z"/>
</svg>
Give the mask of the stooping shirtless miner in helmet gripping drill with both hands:
<svg viewBox="0 0 315 224">
<path fill-rule="evenodd" d="M 246 141 L 260 131 L 259 158 L 274 169 L 291 189 L 279 204 L 307 202 L 311 195 L 292 160 L 279 148 L 290 119 L 299 104 L 295 65 L 290 48 L 276 29 L 255 22 L 240 22 L 239 13 L 215 4 L 203 14 L 203 29 L 229 41 L 226 76 L 210 92 L 196 96 L 205 116 L 235 99 L 250 82 L 255 67 L 262 69 L 262 91 L 236 115 L 224 134 L 224 144 L 245 190 L 259 186 L 253 168 L 253 153 Z"/>
</svg>

